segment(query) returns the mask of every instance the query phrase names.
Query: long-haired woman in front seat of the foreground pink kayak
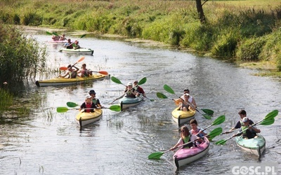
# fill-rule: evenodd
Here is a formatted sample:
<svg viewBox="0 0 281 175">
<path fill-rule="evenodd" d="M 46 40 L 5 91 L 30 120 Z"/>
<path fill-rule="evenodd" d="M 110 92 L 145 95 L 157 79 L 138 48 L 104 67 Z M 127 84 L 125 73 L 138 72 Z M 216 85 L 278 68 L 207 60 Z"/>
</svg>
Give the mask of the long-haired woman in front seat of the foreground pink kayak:
<svg viewBox="0 0 281 175">
<path fill-rule="evenodd" d="M 179 139 L 178 143 L 176 143 L 176 145 L 173 146 L 172 148 L 170 148 L 169 150 L 172 151 L 172 150 L 176 149 L 177 146 L 186 144 L 190 141 L 193 141 L 193 142 L 183 146 L 183 148 L 192 148 L 193 146 L 196 146 L 195 142 L 194 142 L 196 139 L 197 139 L 197 137 L 195 135 L 190 134 L 187 126 L 182 126 L 181 127 L 181 139 Z"/>
</svg>

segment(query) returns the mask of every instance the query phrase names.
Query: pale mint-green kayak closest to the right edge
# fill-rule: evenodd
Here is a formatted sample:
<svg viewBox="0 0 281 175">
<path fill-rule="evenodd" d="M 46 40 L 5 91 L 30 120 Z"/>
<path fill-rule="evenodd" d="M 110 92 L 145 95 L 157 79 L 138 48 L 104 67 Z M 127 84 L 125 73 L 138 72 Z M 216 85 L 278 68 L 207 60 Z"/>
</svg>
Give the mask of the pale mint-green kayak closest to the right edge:
<svg viewBox="0 0 281 175">
<path fill-rule="evenodd" d="M 261 158 L 261 154 L 266 149 L 266 139 L 261 134 L 257 134 L 257 138 L 253 139 L 243 139 L 242 135 L 235 137 L 235 142 L 237 146 L 242 148 L 244 151 L 253 153 L 254 155 Z"/>
</svg>

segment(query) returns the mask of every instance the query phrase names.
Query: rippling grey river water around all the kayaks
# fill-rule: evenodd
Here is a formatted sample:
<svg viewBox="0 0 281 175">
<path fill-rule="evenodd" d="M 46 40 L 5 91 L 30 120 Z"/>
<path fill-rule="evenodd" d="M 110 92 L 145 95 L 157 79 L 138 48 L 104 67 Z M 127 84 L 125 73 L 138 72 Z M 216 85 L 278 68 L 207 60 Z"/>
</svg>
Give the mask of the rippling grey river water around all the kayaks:
<svg viewBox="0 0 281 175">
<path fill-rule="evenodd" d="M 37 41 L 48 49 L 48 64 L 52 68 L 83 62 L 93 71 L 108 71 L 126 84 L 146 77 L 142 85 L 148 98 L 143 104 L 123 112 L 104 110 L 103 118 L 81 131 L 74 121 L 77 110 L 56 113 L 58 106 L 67 102 L 81 104 L 89 90 L 95 90 L 103 106 L 119 97 L 123 85 L 110 79 L 67 87 L 36 87 L 32 90 L 44 97 L 40 110 L 28 120 L 8 120 L 0 125 L 0 174 L 232 174 L 235 165 L 242 163 L 279 167 L 280 174 L 280 115 L 269 126 L 259 125 L 266 138 L 266 151 L 261 160 L 245 153 L 230 139 L 225 146 L 211 143 L 209 153 L 181 167 L 178 172 L 173 162 L 173 151 L 160 160 L 148 160 L 148 155 L 166 151 L 176 144 L 180 134 L 171 120 L 176 107 L 170 99 L 158 99 L 156 92 L 170 98 L 179 97 L 190 89 L 197 106 L 215 111 L 207 120 L 197 113 L 199 126 L 210 125 L 218 116 L 225 115 L 225 123 L 210 127 L 228 130 L 239 119 L 238 111 L 245 109 L 254 122 L 275 109 L 280 110 L 281 81 L 279 78 L 253 76 L 257 71 L 242 69 L 235 64 L 210 57 L 200 57 L 159 45 L 147 45 L 110 38 L 86 36 L 80 45 L 94 50 L 91 55 L 68 55 L 58 52 L 62 45 L 48 43 L 46 31 L 29 30 Z M 70 34 L 67 34 L 70 36 Z M 77 39 L 78 36 L 71 36 Z M 39 75 L 52 78 L 53 73 Z M 163 85 L 176 94 L 169 94 Z M 78 106 L 77 106 L 78 107 Z M 230 135 L 218 136 L 214 141 Z"/>
</svg>

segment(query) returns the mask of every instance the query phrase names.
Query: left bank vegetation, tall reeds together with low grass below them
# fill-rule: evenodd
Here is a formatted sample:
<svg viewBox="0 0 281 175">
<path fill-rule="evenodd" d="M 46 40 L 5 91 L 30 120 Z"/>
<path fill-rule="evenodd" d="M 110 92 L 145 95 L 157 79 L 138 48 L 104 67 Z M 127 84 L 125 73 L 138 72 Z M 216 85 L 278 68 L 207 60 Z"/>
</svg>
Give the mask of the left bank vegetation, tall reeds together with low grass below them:
<svg viewBox="0 0 281 175">
<path fill-rule="evenodd" d="M 27 38 L 20 29 L 0 22 L 0 117 L 14 104 L 12 111 L 28 113 L 14 96 L 22 94 L 28 80 L 44 67 L 46 49 L 33 38 Z"/>
</svg>

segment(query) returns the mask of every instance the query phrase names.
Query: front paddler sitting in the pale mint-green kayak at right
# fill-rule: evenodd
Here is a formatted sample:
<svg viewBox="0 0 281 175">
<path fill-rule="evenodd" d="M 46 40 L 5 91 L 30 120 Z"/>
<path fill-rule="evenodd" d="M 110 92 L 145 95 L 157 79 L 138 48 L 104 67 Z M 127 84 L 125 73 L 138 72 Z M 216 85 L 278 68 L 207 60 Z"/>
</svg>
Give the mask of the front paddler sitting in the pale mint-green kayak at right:
<svg viewBox="0 0 281 175">
<path fill-rule="evenodd" d="M 258 136 L 256 135 L 256 133 L 260 133 L 261 130 L 259 130 L 258 128 L 254 127 L 254 126 L 249 125 L 249 122 L 250 122 L 249 118 L 244 117 L 244 118 L 242 119 L 242 122 L 244 123 L 244 126 L 240 127 L 240 132 L 243 131 L 243 132 L 241 133 L 243 139 L 253 139 L 253 138 L 258 137 Z M 247 129 L 247 130 L 246 130 L 246 129 Z M 240 134 L 240 135 L 241 135 L 241 134 Z"/>
</svg>

